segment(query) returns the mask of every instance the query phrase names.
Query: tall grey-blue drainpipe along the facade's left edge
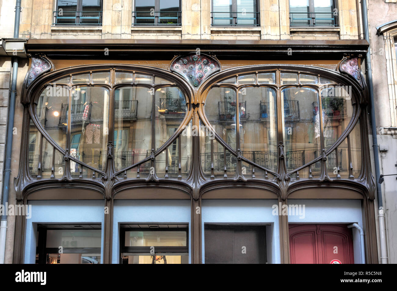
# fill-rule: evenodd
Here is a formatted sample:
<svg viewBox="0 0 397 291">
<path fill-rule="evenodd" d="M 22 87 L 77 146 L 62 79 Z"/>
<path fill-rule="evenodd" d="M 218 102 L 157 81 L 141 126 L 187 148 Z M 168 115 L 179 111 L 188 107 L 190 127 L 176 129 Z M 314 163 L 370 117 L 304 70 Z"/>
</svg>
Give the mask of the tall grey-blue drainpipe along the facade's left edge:
<svg viewBox="0 0 397 291">
<path fill-rule="evenodd" d="M 21 17 L 21 0 L 15 2 L 15 23 L 14 38 L 19 38 L 19 19 Z M 12 154 L 12 128 L 14 127 L 15 97 L 17 95 L 17 74 L 18 74 L 18 57 L 12 58 L 12 79 L 10 90 L 10 102 L 8 104 L 8 123 L 7 123 L 7 140 L 6 156 L 4 162 L 4 179 L 2 191 L 2 204 L 4 205 L 4 215 L 1 216 L 0 222 L 0 264 L 4 264 L 4 255 L 6 251 L 6 230 L 7 230 L 7 212 L 5 208 L 8 205 L 8 194 L 10 191 L 11 175 L 11 154 Z"/>
</svg>

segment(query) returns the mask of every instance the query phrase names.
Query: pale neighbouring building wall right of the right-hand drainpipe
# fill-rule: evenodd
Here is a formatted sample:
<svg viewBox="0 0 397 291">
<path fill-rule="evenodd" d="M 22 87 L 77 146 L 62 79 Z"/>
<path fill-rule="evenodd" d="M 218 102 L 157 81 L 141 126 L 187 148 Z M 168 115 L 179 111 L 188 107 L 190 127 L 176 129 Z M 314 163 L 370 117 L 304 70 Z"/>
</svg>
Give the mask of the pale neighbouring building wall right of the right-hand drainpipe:
<svg viewBox="0 0 397 291">
<path fill-rule="evenodd" d="M 368 3 L 368 24 L 374 84 L 374 99 L 378 144 L 380 146 L 380 174 L 396 174 L 397 131 L 381 129 L 397 126 L 396 89 L 397 65 L 393 34 L 377 35 L 376 27 L 397 20 L 396 1 L 373 0 Z M 372 137 L 370 136 L 372 142 Z M 382 151 L 384 149 L 384 151 Z M 388 150 L 387 150 L 388 149 Z M 395 176 L 384 178 L 382 193 L 386 217 L 388 262 L 397 263 L 397 181 Z"/>
</svg>

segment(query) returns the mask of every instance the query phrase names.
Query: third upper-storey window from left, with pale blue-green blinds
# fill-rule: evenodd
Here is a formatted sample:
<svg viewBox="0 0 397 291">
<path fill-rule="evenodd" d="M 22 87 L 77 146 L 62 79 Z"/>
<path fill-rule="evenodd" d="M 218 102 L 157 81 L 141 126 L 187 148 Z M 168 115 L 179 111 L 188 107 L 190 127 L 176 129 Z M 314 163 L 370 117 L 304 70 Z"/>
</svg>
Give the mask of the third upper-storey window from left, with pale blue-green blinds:
<svg viewBox="0 0 397 291">
<path fill-rule="evenodd" d="M 212 26 L 259 26 L 256 0 L 212 0 Z"/>
</svg>

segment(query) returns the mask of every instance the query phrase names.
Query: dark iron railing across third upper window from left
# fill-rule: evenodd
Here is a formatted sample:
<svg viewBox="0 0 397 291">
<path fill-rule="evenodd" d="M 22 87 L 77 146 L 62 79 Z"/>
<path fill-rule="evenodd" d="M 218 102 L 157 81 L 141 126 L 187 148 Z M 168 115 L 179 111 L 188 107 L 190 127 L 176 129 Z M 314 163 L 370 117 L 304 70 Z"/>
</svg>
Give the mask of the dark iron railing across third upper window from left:
<svg viewBox="0 0 397 291">
<path fill-rule="evenodd" d="M 259 26 L 259 12 L 211 12 L 212 26 Z"/>
</svg>

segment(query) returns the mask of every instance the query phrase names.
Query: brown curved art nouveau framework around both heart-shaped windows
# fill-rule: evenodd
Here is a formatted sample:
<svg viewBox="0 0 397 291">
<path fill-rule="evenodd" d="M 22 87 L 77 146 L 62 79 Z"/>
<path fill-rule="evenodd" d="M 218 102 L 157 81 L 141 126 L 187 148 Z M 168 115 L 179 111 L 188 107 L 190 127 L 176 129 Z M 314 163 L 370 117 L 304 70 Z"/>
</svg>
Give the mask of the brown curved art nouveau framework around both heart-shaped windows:
<svg viewBox="0 0 397 291">
<path fill-rule="evenodd" d="M 90 77 L 90 82 L 85 84 L 85 83 L 78 83 L 76 85 L 78 86 L 101 86 L 104 88 L 107 88 L 110 91 L 110 115 L 109 115 L 109 144 L 108 144 L 108 159 L 106 162 L 106 167 L 104 171 L 99 171 L 95 168 L 90 167 L 89 165 L 85 165 L 81 161 L 71 157 L 68 155 L 68 145 L 70 143 L 70 138 L 67 139 L 67 146 L 66 149 L 62 149 L 58 144 L 52 140 L 52 138 L 46 133 L 44 130 L 43 126 L 40 124 L 39 119 L 37 118 L 37 115 L 35 114 L 35 108 L 37 106 L 37 98 L 39 98 L 42 90 L 46 88 L 46 86 L 51 85 L 53 83 L 53 80 L 58 80 L 60 78 L 64 78 L 67 76 L 72 76 L 76 74 L 83 74 L 83 73 L 89 73 L 90 76 L 92 73 L 96 72 L 104 72 L 104 71 L 110 71 L 110 82 L 109 84 L 94 84 L 92 77 Z M 131 83 L 121 83 L 121 84 L 116 84 L 115 76 L 116 72 L 119 71 L 128 71 L 131 73 L 136 73 L 136 74 L 144 74 L 144 75 L 151 75 L 153 77 L 153 82 L 154 82 L 154 77 L 160 77 L 164 78 L 166 80 L 170 80 L 170 83 L 168 84 L 139 84 L 137 82 L 131 82 Z M 275 73 L 276 74 L 276 83 L 275 84 L 262 84 L 258 82 L 258 74 L 261 73 Z M 296 84 L 281 84 L 281 73 L 297 73 L 298 79 Z M 238 83 L 238 77 L 242 75 L 250 75 L 254 74 L 255 76 L 255 82 L 251 84 L 239 84 Z M 301 83 L 299 78 L 301 75 L 314 75 L 317 76 L 317 84 L 304 84 Z M 222 83 L 222 81 L 227 80 L 229 78 L 235 77 L 236 82 L 234 83 Z M 353 113 L 352 113 L 352 118 L 345 129 L 345 131 L 339 136 L 337 141 L 335 143 L 327 148 L 326 150 L 324 149 L 324 140 L 323 140 L 323 129 L 322 129 L 322 117 L 320 116 L 320 135 L 321 135 L 321 149 L 323 150 L 322 155 L 319 155 L 316 159 L 309 161 L 302 165 L 299 168 L 287 171 L 286 166 L 285 166 L 285 161 L 284 161 L 284 153 L 283 153 L 283 136 L 282 136 L 282 124 L 280 123 L 279 119 L 281 117 L 281 107 L 277 107 L 277 116 L 278 116 L 278 121 L 277 121 L 277 126 L 278 126 L 278 165 L 277 165 L 277 170 L 269 170 L 267 168 L 264 168 L 249 159 L 243 157 L 241 155 L 241 152 L 239 151 L 238 147 L 237 150 L 231 148 L 227 143 L 225 143 L 218 134 L 213 130 L 212 125 L 208 121 L 205 115 L 205 110 L 204 110 L 204 103 L 206 96 L 211 90 L 211 88 L 214 87 L 227 87 L 231 88 L 232 90 L 235 90 L 238 92 L 242 88 L 247 88 L 247 87 L 267 87 L 267 88 L 272 88 L 273 90 L 276 91 L 276 105 L 279 105 L 280 100 L 281 100 L 281 91 L 284 88 L 312 88 L 316 90 L 318 93 L 318 96 L 321 96 L 321 90 L 324 88 L 324 86 L 330 86 L 326 84 L 321 84 L 320 83 L 320 77 L 323 78 L 328 78 L 332 82 L 335 82 L 335 85 L 338 84 L 343 84 L 343 85 L 348 85 L 351 86 L 352 88 L 352 107 L 353 107 Z M 42 184 L 44 180 L 58 180 L 58 181 L 73 181 L 73 180 L 79 180 L 79 182 L 88 182 L 90 184 L 96 184 L 96 186 L 99 187 L 99 189 L 106 188 L 104 187 L 105 184 L 107 184 L 108 180 L 112 180 L 112 195 L 116 195 L 119 191 L 123 191 L 126 188 L 130 188 L 131 184 L 134 182 L 143 182 L 145 181 L 146 183 L 150 182 L 156 182 L 156 183 L 169 183 L 168 180 L 179 180 L 178 186 L 176 188 L 179 188 L 179 190 L 182 190 L 188 195 L 193 195 L 193 185 L 194 184 L 199 184 L 200 185 L 200 193 L 196 193 L 193 195 L 193 197 L 201 197 L 206 191 L 209 191 L 210 189 L 214 188 L 217 183 L 219 184 L 225 184 L 228 183 L 227 181 L 234 181 L 234 182 L 245 182 L 245 183 L 259 183 L 262 185 L 264 188 L 266 188 L 269 191 L 276 191 L 277 193 L 284 193 L 285 197 L 288 195 L 287 193 L 291 193 L 291 190 L 295 188 L 294 184 L 318 184 L 319 182 L 324 182 L 324 180 L 327 181 L 334 181 L 338 180 L 339 182 L 344 182 L 345 180 L 349 180 L 349 183 L 357 183 L 357 186 L 361 188 L 363 185 L 365 185 L 366 193 L 370 192 L 368 188 L 371 188 L 370 186 L 372 183 L 368 183 L 369 180 L 373 180 L 372 175 L 371 178 L 368 178 L 368 169 L 369 165 L 366 165 L 367 163 L 364 161 L 361 167 L 360 175 L 358 177 L 353 177 L 350 175 L 349 179 L 341 179 L 340 176 L 337 178 L 331 178 L 326 169 L 326 157 L 333 151 L 335 151 L 335 148 L 343 142 L 346 138 L 348 138 L 350 132 L 353 130 L 354 126 L 357 124 L 357 121 L 362 118 L 362 111 L 364 106 L 366 105 L 366 87 L 360 88 L 358 86 L 359 84 L 357 82 L 354 82 L 352 80 L 353 78 L 342 75 L 341 73 L 338 73 L 336 71 L 331 71 L 329 69 L 323 69 L 319 67 L 311 67 L 311 66 L 304 66 L 304 65 L 253 65 L 253 66 L 244 66 L 244 67 L 236 67 L 233 69 L 227 69 L 224 71 L 220 71 L 210 77 L 208 77 L 204 82 L 198 87 L 198 88 L 191 88 L 188 82 L 186 82 L 185 79 L 180 78 L 177 76 L 177 74 L 172 74 L 169 71 L 162 70 L 162 69 L 155 69 L 153 67 L 146 67 L 146 66 L 134 66 L 134 65 L 93 65 L 93 66 L 78 66 L 78 67 L 73 67 L 73 68 L 68 68 L 68 69 L 62 69 L 60 71 L 53 71 L 50 73 L 47 73 L 45 76 L 38 78 L 38 80 L 35 80 L 32 84 L 32 86 L 27 90 L 25 96 L 26 96 L 26 105 L 27 105 L 27 110 L 29 112 L 29 116 L 35 126 L 38 128 L 40 131 L 42 137 L 46 138 L 53 146 L 54 149 L 60 151 L 65 157 L 66 161 L 74 161 L 81 165 L 81 167 L 87 167 L 90 168 L 91 170 L 95 171 L 96 173 L 99 174 L 100 178 L 96 178 L 95 172 L 92 178 L 82 178 L 81 176 L 78 179 L 73 179 L 70 176 L 69 173 L 69 168 L 68 168 L 68 162 L 66 163 L 66 170 L 65 174 L 61 179 L 55 179 L 54 177 L 51 177 L 50 179 L 41 179 L 41 176 L 39 175 L 37 179 L 32 178 L 29 175 L 29 171 L 26 173 L 26 177 L 24 180 L 26 180 L 26 184 L 35 184 L 37 180 L 41 180 Z M 71 86 L 75 85 L 72 84 L 71 82 L 67 84 L 61 84 L 61 83 L 56 83 L 58 86 L 69 86 L 69 90 L 71 90 Z M 164 87 L 178 87 L 182 90 L 183 94 L 185 94 L 186 97 L 186 103 L 187 103 L 187 112 L 185 114 L 185 117 L 183 119 L 183 122 L 179 125 L 175 133 L 170 137 L 170 139 L 163 144 L 158 150 L 154 151 L 154 138 L 152 138 L 152 153 L 150 156 L 146 157 L 145 159 L 130 165 L 122 170 L 114 170 L 114 165 L 113 165 L 113 157 L 112 157 L 112 149 L 113 149 L 113 144 L 111 141 L 113 141 L 113 128 L 114 128 L 114 91 L 117 90 L 118 88 L 123 88 L 127 86 L 142 86 L 146 88 L 154 88 L 156 90 L 157 88 L 164 88 Z M 71 94 L 69 94 L 69 102 L 70 102 Z M 155 100 L 155 95 L 153 95 L 153 98 Z M 236 94 L 236 98 L 238 101 L 238 94 Z M 319 107 L 321 108 L 321 98 L 319 98 L 320 104 Z M 154 106 L 154 102 L 153 102 Z M 153 114 L 154 110 L 152 110 Z M 71 113 L 69 112 L 69 115 Z M 69 117 L 70 120 L 70 117 Z M 143 165 L 144 163 L 151 163 L 151 166 L 154 167 L 155 165 L 155 159 L 156 156 L 158 156 L 162 151 L 164 151 L 170 144 L 172 144 L 181 134 L 185 126 L 187 126 L 190 122 L 193 123 L 193 125 L 198 125 L 200 122 L 208 126 L 208 128 L 211 128 L 214 132 L 215 140 L 219 142 L 223 147 L 224 151 L 229 151 L 232 155 L 234 155 L 237 159 L 237 167 L 236 167 L 236 174 L 233 177 L 228 177 L 226 174 L 226 169 L 225 169 L 225 175 L 224 178 L 215 178 L 213 170 L 211 171 L 211 176 L 210 178 L 205 178 L 203 174 L 203 170 L 201 168 L 201 162 L 200 162 L 200 147 L 199 147 L 199 141 L 198 137 L 193 137 L 193 148 L 192 148 L 192 163 L 190 165 L 190 171 L 187 176 L 187 178 L 182 178 L 181 177 L 181 170 L 180 170 L 180 155 L 179 155 L 179 174 L 177 178 L 169 178 L 167 175 L 167 170 L 166 170 L 166 176 L 164 178 L 159 178 L 156 176 L 156 173 L 154 172 L 153 174 L 150 174 L 147 178 L 140 178 L 139 177 L 139 167 Z M 239 122 L 239 116 L 237 115 L 237 121 Z M 365 122 L 361 122 L 362 124 L 361 127 L 362 129 L 366 128 Z M 360 130 L 361 135 L 365 136 L 365 132 Z M 365 129 L 366 130 L 366 129 Z M 68 137 L 70 136 L 70 124 L 68 124 Z M 152 136 L 154 136 L 154 123 L 152 123 Z M 237 141 L 239 141 L 239 129 L 237 128 Z M 365 145 L 362 142 L 361 145 L 362 148 L 362 156 L 366 155 L 367 153 L 365 152 Z M 25 154 L 25 161 L 27 159 L 27 152 Z M 212 155 L 212 153 L 211 153 Z M 250 174 L 243 175 L 241 171 L 241 163 L 248 163 L 252 166 L 253 172 Z M 299 170 L 310 167 L 310 165 L 313 165 L 314 163 L 320 162 L 322 165 L 322 173 L 320 175 L 320 178 L 299 178 Z M 137 178 L 127 178 L 126 172 L 127 170 L 130 170 L 132 168 L 138 168 L 138 176 Z M 260 169 L 265 171 L 266 173 L 266 178 L 265 179 L 258 179 L 255 177 L 254 174 L 254 169 Z M 272 174 L 274 178 L 268 179 L 267 176 L 269 174 Z M 291 179 L 291 175 L 296 174 L 298 178 L 297 179 Z M 19 177 L 20 178 L 20 177 Z M 369 179 L 369 180 L 368 180 Z M 50 181 L 48 181 L 50 182 Z M 338 182 L 338 183 L 339 183 Z M 215 183 L 215 184 L 214 184 Z M 301 186 L 299 186 L 300 188 Z M 281 188 L 281 189 L 280 189 Z M 291 190 L 290 190 L 291 189 Z M 103 191 L 100 191 L 103 193 Z M 193 191 L 195 192 L 195 191 Z M 284 196 L 282 195 L 282 196 Z"/>
</svg>

